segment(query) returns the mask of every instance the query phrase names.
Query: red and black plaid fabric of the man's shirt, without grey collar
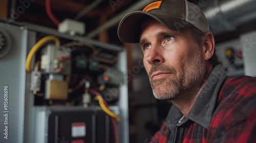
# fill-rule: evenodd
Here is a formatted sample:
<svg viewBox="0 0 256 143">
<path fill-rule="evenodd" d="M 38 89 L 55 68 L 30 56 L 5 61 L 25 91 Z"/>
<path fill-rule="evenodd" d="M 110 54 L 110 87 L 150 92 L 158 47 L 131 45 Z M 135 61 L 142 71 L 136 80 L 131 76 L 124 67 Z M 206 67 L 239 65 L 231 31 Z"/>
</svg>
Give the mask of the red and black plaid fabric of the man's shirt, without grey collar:
<svg viewBox="0 0 256 143">
<path fill-rule="evenodd" d="M 151 142 L 174 141 L 166 123 Z M 177 128 L 175 142 L 256 142 L 256 78 L 226 79 L 208 129 L 191 120 Z"/>
</svg>

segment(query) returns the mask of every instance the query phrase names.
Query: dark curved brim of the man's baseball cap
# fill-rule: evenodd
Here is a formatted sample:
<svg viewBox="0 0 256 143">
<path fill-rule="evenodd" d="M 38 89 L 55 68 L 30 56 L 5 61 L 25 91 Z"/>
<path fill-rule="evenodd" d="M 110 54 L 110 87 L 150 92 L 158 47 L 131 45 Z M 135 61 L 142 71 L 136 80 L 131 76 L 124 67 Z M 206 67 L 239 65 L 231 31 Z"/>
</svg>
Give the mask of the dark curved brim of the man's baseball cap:
<svg viewBox="0 0 256 143">
<path fill-rule="evenodd" d="M 165 27 L 179 31 L 191 27 L 191 23 L 170 15 L 153 14 L 144 11 L 134 11 L 126 14 L 120 21 L 118 26 L 118 37 L 125 43 L 138 43 L 140 39 L 140 28 L 142 23 L 148 18 L 154 18 Z M 166 23 L 172 23 L 166 25 Z"/>
</svg>

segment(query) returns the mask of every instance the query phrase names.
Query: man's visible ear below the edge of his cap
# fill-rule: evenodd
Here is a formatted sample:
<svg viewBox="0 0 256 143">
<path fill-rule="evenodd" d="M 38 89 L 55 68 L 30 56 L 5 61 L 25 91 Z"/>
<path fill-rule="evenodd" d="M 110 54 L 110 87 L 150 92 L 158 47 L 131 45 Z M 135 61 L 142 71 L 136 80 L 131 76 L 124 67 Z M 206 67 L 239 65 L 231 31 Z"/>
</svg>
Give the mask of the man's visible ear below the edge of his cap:
<svg viewBox="0 0 256 143">
<path fill-rule="evenodd" d="M 215 50 L 214 35 L 212 35 L 210 32 L 207 32 L 203 42 L 204 59 L 209 60 L 212 55 L 214 55 Z"/>
</svg>

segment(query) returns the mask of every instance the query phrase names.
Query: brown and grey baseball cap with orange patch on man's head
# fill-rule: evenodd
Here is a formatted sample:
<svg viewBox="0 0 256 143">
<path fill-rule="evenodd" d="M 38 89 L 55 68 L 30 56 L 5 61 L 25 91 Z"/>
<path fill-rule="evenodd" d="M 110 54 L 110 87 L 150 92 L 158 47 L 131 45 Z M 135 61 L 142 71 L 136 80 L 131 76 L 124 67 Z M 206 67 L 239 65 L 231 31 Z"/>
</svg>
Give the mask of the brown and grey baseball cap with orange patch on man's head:
<svg viewBox="0 0 256 143">
<path fill-rule="evenodd" d="M 186 0 L 155 0 L 142 11 L 130 12 L 121 19 L 117 30 L 119 39 L 126 43 L 138 43 L 141 24 L 151 17 L 175 31 L 192 26 L 202 32 L 209 31 L 207 18 L 197 5 Z"/>
</svg>

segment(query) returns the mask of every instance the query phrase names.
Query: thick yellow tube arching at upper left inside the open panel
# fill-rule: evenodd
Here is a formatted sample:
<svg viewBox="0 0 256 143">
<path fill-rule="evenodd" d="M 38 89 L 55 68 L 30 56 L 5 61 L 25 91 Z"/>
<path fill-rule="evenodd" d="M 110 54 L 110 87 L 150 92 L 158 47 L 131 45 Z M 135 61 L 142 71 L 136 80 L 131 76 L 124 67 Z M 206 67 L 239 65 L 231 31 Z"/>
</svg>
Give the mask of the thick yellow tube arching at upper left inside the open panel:
<svg viewBox="0 0 256 143">
<path fill-rule="evenodd" d="M 35 55 L 35 53 L 40 49 L 40 47 L 42 45 L 44 45 L 45 43 L 47 43 L 49 41 L 54 41 L 57 46 L 60 45 L 59 39 L 57 37 L 54 37 L 54 36 L 46 36 L 44 38 L 41 38 L 38 42 L 36 42 L 35 45 L 32 47 L 32 49 L 30 50 L 30 52 L 28 54 L 28 57 L 27 57 L 27 60 L 26 60 L 26 70 L 27 70 L 27 72 L 31 71 L 30 63 L 31 63 L 31 60 L 32 60 L 33 56 Z"/>
</svg>

